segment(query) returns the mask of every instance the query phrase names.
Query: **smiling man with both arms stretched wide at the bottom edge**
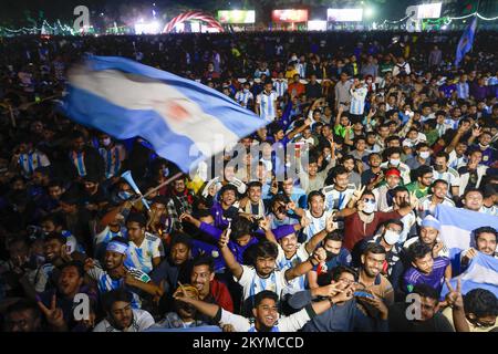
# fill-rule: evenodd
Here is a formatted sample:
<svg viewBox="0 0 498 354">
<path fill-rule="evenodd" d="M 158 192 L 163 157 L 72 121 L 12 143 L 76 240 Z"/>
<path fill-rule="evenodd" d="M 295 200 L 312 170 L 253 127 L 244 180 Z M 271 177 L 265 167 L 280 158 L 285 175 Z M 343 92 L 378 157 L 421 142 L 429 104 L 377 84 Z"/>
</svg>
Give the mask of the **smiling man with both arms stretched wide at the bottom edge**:
<svg viewBox="0 0 498 354">
<path fill-rule="evenodd" d="M 322 300 L 307 305 L 288 317 L 279 319 L 279 296 L 272 291 L 263 290 L 255 296 L 251 311 L 255 321 L 252 322 L 218 305 L 185 296 L 183 292 L 178 292 L 175 299 L 194 305 L 198 311 L 211 317 L 214 322 L 224 325 L 224 329 L 229 326 L 232 332 L 297 332 L 312 317 L 333 305 L 333 300 Z"/>
</svg>

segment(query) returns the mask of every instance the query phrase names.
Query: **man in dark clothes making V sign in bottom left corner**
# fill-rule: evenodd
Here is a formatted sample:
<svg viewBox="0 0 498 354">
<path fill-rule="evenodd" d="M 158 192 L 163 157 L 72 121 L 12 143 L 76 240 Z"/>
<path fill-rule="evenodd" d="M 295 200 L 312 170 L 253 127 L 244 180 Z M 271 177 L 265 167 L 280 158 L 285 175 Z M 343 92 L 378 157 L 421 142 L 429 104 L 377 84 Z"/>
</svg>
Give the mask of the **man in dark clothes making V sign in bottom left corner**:
<svg viewBox="0 0 498 354">
<path fill-rule="evenodd" d="M 37 296 L 38 305 L 53 331 L 66 332 L 76 326 L 74 319 L 76 294 L 84 293 L 96 300 L 96 294 L 83 285 L 84 275 L 83 263 L 79 261 L 65 263 L 61 269 L 56 288 Z"/>
</svg>

